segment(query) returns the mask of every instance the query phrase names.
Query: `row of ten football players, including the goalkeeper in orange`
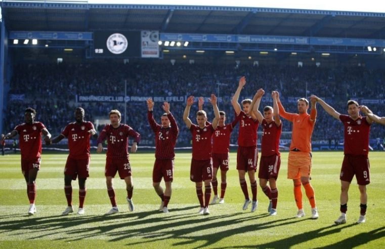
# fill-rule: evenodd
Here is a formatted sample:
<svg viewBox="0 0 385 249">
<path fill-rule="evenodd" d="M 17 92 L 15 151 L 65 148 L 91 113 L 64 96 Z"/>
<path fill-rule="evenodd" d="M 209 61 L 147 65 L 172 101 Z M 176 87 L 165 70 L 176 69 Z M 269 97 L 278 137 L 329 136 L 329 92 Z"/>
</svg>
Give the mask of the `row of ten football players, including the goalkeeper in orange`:
<svg viewBox="0 0 385 249">
<path fill-rule="evenodd" d="M 341 193 L 340 193 L 340 217 L 336 224 L 346 223 L 347 202 L 349 186 L 356 176 L 360 190 L 360 217 L 357 223 L 365 222 L 367 194 L 366 185 L 370 183 L 369 176 L 369 131 L 373 121 L 385 125 L 385 117 L 374 115 L 366 106 L 359 106 L 356 101 L 348 102 L 349 115 L 342 115 L 335 111 L 317 96 L 310 97 L 311 111 L 308 114 L 309 101 L 301 98 L 297 101 L 298 113 L 288 113 L 281 104 L 279 93 L 273 91 L 273 107 L 266 106 L 263 114 L 259 111 L 262 97 L 265 94 L 263 89 L 256 91 L 253 99 L 245 99 L 238 103 L 241 90 L 246 85 L 245 77 L 239 80 L 238 88 L 233 96 L 232 105 L 235 110 L 235 120 L 226 124 L 226 114 L 219 111 L 217 97 L 211 95 L 208 102 L 211 103 L 215 118 L 212 122 L 207 121 L 206 112 L 203 110 L 203 98 L 199 98 L 199 111 L 196 113 L 194 124 L 189 118 L 191 106 L 194 104 L 194 97 L 187 99 L 186 108 L 183 113 L 183 120 L 192 134 L 192 159 L 190 169 L 190 180 L 195 182 L 196 194 L 199 200 L 199 214 L 210 213 L 209 203 L 224 203 L 226 192 L 226 172 L 229 170 L 229 146 L 230 135 L 234 127 L 239 123 L 237 170 L 239 182 L 245 201 L 242 209 L 247 210 L 251 203 L 251 212 L 258 208 L 257 182 L 255 179 L 256 162 L 258 161 L 257 130 L 259 125 L 263 126 L 262 155 L 259 169 L 259 183 L 269 198 L 268 212 L 274 216 L 277 214 L 278 188 L 276 180 L 280 169 L 279 140 L 282 132 L 280 116 L 292 122 L 292 138 L 288 155 L 287 178 L 293 180 L 294 199 L 298 208 L 296 218 L 305 216 L 302 202 L 302 186 L 311 205 L 311 218 L 319 217 L 316 207 L 315 192 L 310 183 L 312 169 L 311 137 L 317 117 L 316 104 L 319 103 L 325 111 L 344 123 L 344 160 L 340 171 Z M 172 182 L 174 177 L 175 145 L 179 134 L 177 122 L 170 112 L 170 106 L 164 102 L 161 115 L 161 123 L 158 124 L 153 116 L 154 102 L 147 99 L 147 118 L 151 129 L 155 134 L 155 163 L 153 168 L 153 187 L 161 199 L 160 211 L 168 213 L 168 202 L 172 193 Z M 362 111 L 366 116 L 361 116 Z M 58 143 L 68 138 L 69 155 L 64 169 L 64 190 L 67 199 L 67 208 L 62 215 L 73 213 L 72 206 L 72 180 L 78 177 L 79 184 L 79 209 L 77 214 L 84 214 L 84 198 L 87 193 L 85 181 L 89 177 L 90 164 L 90 139 L 98 137 L 92 122 L 84 121 L 84 109 L 81 107 L 75 110 L 75 122 L 69 123 L 64 131 L 57 137 L 51 138 L 46 127 L 35 121 L 36 111 L 32 108 L 25 110 L 25 123 L 16 126 L 4 139 L 10 139 L 19 135 L 21 150 L 21 169 L 27 183 L 27 195 L 30 202 L 28 214 L 36 213 L 36 176 L 40 169 L 41 155 L 41 133 L 45 135 L 46 144 Z M 109 113 L 110 124 L 106 125 L 100 133 L 97 143 L 97 152 L 103 151 L 102 142 L 107 140 L 107 156 L 105 165 L 105 177 L 107 192 L 112 208 L 106 214 L 118 213 L 113 178 L 116 173 L 126 183 L 128 207 L 134 211 L 133 203 L 133 179 L 132 169 L 128 152 L 129 137 L 134 139 L 131 152 L 137 151 L 141 135 L 130 126 L 120 123 L 121 114 L 118 110 L 111 110 Z M 221 170 L 221 194 L 218 195 L 217 173 Z M 251 199 L 248 194 L 246 173 L 251 187 Z M 161 179 L 164 179 L 165 190 L 160 186 Z M 204 193 L 203 193 L 204 185 Z M 214 197 L 211 198 L 211 186 Z"/>
</svg>

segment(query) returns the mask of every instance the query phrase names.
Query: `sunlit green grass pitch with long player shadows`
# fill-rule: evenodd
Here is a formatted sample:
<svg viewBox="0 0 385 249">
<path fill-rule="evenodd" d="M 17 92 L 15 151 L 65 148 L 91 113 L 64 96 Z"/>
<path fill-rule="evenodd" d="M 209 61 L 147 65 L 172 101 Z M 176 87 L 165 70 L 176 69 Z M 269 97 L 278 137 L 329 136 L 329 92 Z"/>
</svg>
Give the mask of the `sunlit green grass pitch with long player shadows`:
<svg viewBox="0 0 385 249">
<path fill-rule="evenodd" d="M 359 191 L 350 187 L 348 221 L 336 226 L 339 216 L 339 170 L 343 152 L 313 154 L 312 185 L 320 218 L 293 218 L 296 206 L 292 181 L 286 179 L 287 153 L 282 153 L 277 181 L 278 215 L 268 216 L 268 199 L 258 187 L 255 213 L 242 211 L 243 194 L 231 153 L 224 204 L 210 205 L 211 214 L 197 214 L 195 185 L 189 180 L 191 153 L 179 152 L 175 161 L 170 213 L 158 212 L 160 199 L 152 187 L 154 153 L 131 155 L 135 211 L 129 212 L 122 180 L 114 179 L 119 213 L 104 216 L 111 207 L 104 178 L 105 154 L 92 154 L 87 180 L 85 215 L 76 215 L 77 182 L 72 182 L 75 214 L 60 216 L 66 208 L 63 169 L 67 154 L 44 153 L 37 177 L 37 214 L 28 216 L 26 186 L 20 170 L 20 154 L 0 156 L 1 248 L 383 248 L 385 245 L 385 153 L 371 152 L 371 184 L 368 186 L 366 223 L 357 225 Z M 248 182 L 248 188 L 250 184 Z M 250 191 L 250 190 L 249 190 Z"/>
</svg>

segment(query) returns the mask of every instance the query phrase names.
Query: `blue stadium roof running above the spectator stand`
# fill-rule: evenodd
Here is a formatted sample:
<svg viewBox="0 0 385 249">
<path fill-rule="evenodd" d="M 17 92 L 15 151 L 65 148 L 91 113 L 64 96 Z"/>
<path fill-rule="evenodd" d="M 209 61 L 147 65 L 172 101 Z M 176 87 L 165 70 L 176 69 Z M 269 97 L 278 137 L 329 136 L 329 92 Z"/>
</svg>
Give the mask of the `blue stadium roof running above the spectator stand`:
<svg viewBox="0 0 385 249">
<path fill-rule="evenodd" d="M 9 31 L 149 29 L 168 33 L 385 38 L 385 13 L 46 1 L 1 4 Z"/>
</svg>

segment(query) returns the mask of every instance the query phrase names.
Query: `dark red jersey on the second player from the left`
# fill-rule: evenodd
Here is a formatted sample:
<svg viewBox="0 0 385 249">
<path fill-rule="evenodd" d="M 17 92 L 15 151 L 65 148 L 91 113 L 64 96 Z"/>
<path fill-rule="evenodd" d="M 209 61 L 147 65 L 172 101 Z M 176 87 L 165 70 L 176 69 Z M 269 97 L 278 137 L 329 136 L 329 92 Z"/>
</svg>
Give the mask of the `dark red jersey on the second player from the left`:
<svg viewBox="0 0 385 249">
<path fill-rule="evenodd" d="M 90 130 L 94 129 L 92 122 L 69 123 L 62 132 L 68 138 L 69 157 L 73 159 L 87 159 L 90 156 Z"/>
</svg>

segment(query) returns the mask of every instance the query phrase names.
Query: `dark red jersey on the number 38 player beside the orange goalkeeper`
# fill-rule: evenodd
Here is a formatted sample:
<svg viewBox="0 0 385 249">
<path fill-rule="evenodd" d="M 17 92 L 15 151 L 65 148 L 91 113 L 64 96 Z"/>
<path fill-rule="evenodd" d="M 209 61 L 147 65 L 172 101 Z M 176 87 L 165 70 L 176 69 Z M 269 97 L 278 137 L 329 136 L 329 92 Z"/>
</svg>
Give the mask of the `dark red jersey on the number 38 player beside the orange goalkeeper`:
<svg viewBox="0 0 385 249">
<path fill-rule="evenodd" d="M 274 121 L 268 123 L 264 118 L 262 127 L 264 129 L 261 142 L 262 156 L 280 155 L 279 139 L 282 133 L 282 122 L 277 126 Z"/>
</svg>

